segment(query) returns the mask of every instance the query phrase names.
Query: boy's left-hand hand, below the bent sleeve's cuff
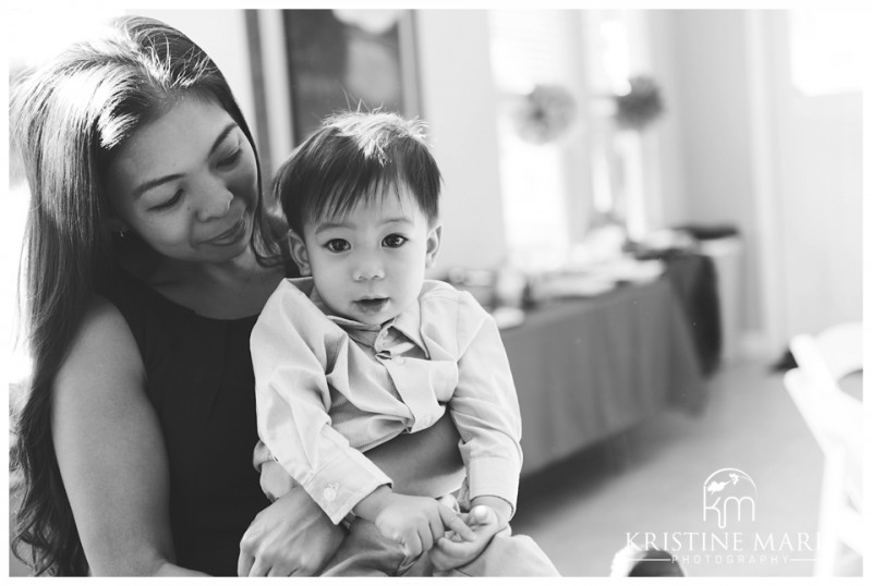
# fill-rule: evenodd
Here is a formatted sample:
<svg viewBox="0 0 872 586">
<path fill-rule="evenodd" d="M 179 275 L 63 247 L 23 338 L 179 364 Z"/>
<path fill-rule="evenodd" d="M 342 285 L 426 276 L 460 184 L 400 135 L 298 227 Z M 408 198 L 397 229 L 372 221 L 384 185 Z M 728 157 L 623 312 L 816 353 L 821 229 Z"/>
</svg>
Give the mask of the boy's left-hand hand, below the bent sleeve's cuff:
<svg viewBox="0 0 872 586">
<path fill-rule="evenodd" d="M 463 539 L 475 538 L 460 515 L 428 497 L 376 491 L 361 501 L 355 512 L 375 523 L 382 535 L 399 542 L 409 558 L 428 551 L 446 529 Z"/>
</svg>

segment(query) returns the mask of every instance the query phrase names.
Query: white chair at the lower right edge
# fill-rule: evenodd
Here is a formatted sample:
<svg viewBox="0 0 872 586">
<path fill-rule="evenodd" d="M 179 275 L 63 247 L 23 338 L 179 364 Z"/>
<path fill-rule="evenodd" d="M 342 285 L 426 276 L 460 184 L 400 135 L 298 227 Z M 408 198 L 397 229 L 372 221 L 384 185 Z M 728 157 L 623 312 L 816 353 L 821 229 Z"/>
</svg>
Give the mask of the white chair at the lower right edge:
<svg viewBox="0 0 872 586">
<path fill-rule="evenodd" d="M 798 368 L 785 375 L 785 386 L 824 453 L 814 573 L 832 576 L 845 547 L 863 554 L 862 402 L 839 386 L 862 370 L 862 325 L 797 335 L 790 352 Z"/>
</svg>

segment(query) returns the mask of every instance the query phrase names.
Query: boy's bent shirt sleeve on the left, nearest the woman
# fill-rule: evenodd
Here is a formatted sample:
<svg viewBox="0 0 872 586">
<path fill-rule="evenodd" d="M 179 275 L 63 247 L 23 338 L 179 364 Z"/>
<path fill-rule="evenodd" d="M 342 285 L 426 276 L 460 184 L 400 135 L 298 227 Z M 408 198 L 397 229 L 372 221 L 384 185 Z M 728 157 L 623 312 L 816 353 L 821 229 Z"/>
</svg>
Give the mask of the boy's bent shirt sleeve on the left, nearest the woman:
<svg viewBox="0 0 872 586">
<path fill-rule="evenodd" d="M 330 425 L 325 373 L 341 339 L 327 325 L 300 290 L 283 282 L 255 323 L 251 349 L 261 440 L 339 523 L 390 478 Z"/>
</svg>

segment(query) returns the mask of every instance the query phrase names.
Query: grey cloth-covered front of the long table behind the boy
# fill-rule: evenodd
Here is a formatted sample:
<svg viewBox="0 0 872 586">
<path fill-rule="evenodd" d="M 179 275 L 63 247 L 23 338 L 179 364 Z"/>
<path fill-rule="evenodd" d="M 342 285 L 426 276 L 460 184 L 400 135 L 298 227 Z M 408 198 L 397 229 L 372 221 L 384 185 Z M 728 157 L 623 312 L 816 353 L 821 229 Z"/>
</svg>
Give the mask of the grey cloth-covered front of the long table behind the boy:
<svg viewBox="0 0 872 586">
<path fill-rule="evenodd" d="M 522 474 L 665 407 L 699 413 L 707 389 L 669 279 L 555 302 L 501 332 L 523 419 Z"/>
</svg>

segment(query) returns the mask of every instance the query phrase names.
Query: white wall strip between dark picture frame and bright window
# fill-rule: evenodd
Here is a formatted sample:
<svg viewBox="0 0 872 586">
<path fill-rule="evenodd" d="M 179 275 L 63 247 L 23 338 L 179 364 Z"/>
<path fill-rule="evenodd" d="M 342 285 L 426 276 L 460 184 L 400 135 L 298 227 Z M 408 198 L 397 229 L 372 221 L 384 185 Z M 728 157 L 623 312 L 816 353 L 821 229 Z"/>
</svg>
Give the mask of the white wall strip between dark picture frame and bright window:
<svg viewBox="0 0 872 586">
<path fill-rule="evenodd" d="M 506 255 L 487 15 L 415 12 L 422 118 L 445 185 L 434 268 L 494 268 Z"/>
</svg>

